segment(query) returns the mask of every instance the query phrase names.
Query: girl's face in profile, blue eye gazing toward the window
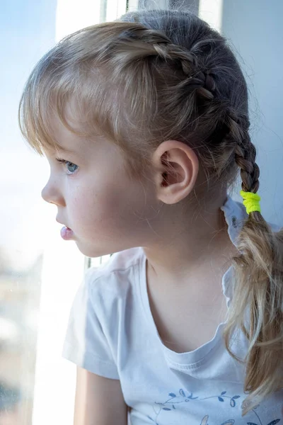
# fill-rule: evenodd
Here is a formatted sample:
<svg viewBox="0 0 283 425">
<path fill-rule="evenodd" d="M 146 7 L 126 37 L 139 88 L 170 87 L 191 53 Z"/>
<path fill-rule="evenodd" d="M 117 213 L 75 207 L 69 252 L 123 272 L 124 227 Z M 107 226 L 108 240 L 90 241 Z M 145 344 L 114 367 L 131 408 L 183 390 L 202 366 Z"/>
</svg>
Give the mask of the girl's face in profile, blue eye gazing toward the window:
<svg viewBox="0 0 283 425">
<path fill-rule="evenodd" d="M 74 232 L 79 250 L 96 257 L 146 245 L 152 237 L 147 219 L 156 215 L 152 183 L 130 181 L 120 151 L 108 140 L 83 139 L 59 120 L 53 129 L 62 148 L 74 152 L 45 149 L 50 179 L 42 198 L 57 205 L 57 221 Z"/>
</svg>

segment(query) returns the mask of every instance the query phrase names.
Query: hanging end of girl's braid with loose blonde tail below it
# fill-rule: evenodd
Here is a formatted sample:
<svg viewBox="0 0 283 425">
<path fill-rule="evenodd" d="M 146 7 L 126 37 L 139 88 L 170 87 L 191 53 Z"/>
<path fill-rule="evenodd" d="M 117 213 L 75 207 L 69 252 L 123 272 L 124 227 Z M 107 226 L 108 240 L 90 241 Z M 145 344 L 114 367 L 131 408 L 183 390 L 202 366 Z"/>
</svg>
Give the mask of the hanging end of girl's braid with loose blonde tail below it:
<svg viewBox="0 0 283 425">
<path fill-rule="evenodd" d="M 233 125 L 237 124 L 233 122 Z M 241 167 L 243 181 L 242 195 L 258 191 L 259 169 L 255 153 L 246 134 L 245 144 L 236 148 L 236 163 Z M 231 356 L 241 361 L 229 346 L 231 334 L 238 327 L 248 339 L 248 353 L 244 359 L 244 390 L 248 397 L 242 406 L 244 415 L 267 395 L 283 387 L 283 230 L 272 232 L 260 209 L 252 208 L 238 236 L 237 247 L 239 254 L 233 258 L 233 300 L 224 340 Z"/>
</svg>

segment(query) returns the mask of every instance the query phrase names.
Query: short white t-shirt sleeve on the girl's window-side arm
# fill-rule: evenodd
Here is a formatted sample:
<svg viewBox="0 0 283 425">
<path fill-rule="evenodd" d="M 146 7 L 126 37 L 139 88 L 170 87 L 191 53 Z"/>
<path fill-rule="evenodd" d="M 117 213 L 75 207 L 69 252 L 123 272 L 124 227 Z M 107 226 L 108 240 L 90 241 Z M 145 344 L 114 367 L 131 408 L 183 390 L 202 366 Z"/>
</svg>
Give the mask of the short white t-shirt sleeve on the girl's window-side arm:
<svg viewBox="0 0 283 425">
<path fill-rule="evenodd" d="M 96 287 L 96 270 L 90 268 L 71 305 L 62 356 L 92 373 L 119 379 L 112 350 L 99 318 L 101 297 Z"/>
</svg>

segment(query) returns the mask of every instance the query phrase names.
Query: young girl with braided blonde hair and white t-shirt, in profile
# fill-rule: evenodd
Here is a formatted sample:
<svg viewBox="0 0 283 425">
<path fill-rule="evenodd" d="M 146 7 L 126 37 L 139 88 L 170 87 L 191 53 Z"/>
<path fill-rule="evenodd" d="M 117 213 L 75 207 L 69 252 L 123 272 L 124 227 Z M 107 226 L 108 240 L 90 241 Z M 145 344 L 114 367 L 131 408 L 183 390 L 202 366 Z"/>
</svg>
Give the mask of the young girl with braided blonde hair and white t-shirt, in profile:
<svg viewBox="0 0 283 425">
<path fill-rule="evenodd" d="M 260 214 L 225 38 L 173 10 L 79 30 L 35 66 L 20 118 L 62 237 L 115 253 L 71 308 L 75 424 L 283 425 L 283 232 Z"/>
</svg>

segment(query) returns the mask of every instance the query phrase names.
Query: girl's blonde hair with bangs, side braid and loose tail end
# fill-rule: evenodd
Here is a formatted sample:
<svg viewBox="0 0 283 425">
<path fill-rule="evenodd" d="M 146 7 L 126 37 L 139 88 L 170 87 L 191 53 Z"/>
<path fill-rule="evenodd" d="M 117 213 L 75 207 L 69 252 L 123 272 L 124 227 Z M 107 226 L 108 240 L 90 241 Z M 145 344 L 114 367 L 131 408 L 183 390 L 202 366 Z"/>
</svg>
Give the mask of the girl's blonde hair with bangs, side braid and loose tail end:
<svg viewBox="0 0 283 425">
<path fill-rule="evenodd" d="M 216 186 L 231 185 L 240 169 L 243 191 L 258 191 L 243 73 L 226 39 L 189 11 L 126 13 L 68 35 L 47 52 L 30 74 L 19 111 L 21 131 L 38 153 L 57 146 L 52 113 L 74 130 L 65 108 L 71 99 L 82 134 L 106 135 L 119 146 L 132 178 L 146 175 L 161 142 L 180 140 L 195 149 Z M 246 414 L 282 387 L 283 232 L 273 233 L 252 212 L 238 249 L 224 339 L 234 358 L 233 331 L 242 329 L 248 339 Z"/>
</svg>

